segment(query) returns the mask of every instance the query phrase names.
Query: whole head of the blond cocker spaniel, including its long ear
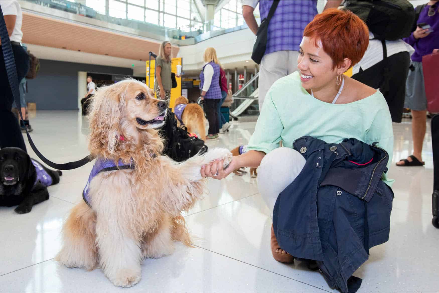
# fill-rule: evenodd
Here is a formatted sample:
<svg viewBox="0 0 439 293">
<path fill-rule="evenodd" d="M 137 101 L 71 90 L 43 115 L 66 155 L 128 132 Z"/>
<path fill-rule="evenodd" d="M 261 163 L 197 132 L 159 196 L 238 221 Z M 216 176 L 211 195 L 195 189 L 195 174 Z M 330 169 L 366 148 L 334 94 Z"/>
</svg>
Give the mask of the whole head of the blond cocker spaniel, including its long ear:
<svg viewBox="0 0 439 293">
<path fill-rule="evenodd" d="M 112 156 L 122 146 L 121 141 L 125 145 L 161 145 L 151 135 L 165 124 L 167 107 L 153 94 L 146 84 L 133 79 L 99 87 L 90 106 L 90 153 Z"/>
</svg>

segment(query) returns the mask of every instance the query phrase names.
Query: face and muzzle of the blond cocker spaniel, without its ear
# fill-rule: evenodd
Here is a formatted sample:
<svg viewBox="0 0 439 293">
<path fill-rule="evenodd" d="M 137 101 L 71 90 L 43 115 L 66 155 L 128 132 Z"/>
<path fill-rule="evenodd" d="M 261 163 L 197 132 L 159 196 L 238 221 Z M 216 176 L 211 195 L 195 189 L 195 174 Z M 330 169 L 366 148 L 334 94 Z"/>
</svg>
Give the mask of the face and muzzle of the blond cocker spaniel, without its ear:
<svg viewBox="0 0 439 293">
<path fill-rule="evenodd" d="M 126 120 L 137 128 L 158 128 L 165 124 L 166 102 L 153 98 L 142 84 L 133 83 L 126 93 Z"/>
</svg>

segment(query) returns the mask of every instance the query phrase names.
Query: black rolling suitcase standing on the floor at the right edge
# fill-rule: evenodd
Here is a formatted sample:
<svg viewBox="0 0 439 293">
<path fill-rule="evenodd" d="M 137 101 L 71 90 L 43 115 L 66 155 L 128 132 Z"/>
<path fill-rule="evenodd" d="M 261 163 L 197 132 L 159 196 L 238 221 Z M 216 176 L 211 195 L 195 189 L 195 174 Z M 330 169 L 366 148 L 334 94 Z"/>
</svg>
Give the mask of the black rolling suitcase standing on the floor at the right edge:
<svg viewBox="0 0 439 293">
<path fill-rule="evenodd" d="M 432 194 L 432 224 L 439 228 L 439 114 L 432 118 L 433 146 L 433 194 Z"/>
</svg>

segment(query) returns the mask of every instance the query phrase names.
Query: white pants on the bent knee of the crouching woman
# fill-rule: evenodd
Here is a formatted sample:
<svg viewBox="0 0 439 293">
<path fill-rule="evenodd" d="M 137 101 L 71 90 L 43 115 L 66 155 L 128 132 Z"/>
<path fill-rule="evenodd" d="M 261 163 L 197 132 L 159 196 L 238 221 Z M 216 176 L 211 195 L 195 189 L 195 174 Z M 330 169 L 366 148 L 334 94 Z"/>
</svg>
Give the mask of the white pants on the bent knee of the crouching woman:
<svg viewBox="0 0 439 293">
<path fill-rule="evenodd" d="M 277 196 L 299 175 L 305 163 L 305 158 L 292 148 L 276 148 L 262 159 L 258 188 L 272 217 Z"/>
</svg>

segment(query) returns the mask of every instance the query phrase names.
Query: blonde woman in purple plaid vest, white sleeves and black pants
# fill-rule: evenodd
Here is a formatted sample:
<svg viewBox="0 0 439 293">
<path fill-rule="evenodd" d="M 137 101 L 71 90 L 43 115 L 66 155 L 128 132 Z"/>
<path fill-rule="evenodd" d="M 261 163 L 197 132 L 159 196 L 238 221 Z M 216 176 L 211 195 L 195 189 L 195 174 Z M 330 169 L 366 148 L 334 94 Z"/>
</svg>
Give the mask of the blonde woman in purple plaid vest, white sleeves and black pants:
<svg viewBox="0 0 439 293">
<path fill-rule="evenodd" d="M 218 102 L 222 98 L 219 87 L 219 61 L 214 48 L 204 51 L 205 65 L 200 73 L 201 100 L 204 101 L 204 112 L 209 120 L 209 134 L 206 139 L 218 138 Z"/>
</svg>

